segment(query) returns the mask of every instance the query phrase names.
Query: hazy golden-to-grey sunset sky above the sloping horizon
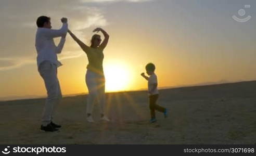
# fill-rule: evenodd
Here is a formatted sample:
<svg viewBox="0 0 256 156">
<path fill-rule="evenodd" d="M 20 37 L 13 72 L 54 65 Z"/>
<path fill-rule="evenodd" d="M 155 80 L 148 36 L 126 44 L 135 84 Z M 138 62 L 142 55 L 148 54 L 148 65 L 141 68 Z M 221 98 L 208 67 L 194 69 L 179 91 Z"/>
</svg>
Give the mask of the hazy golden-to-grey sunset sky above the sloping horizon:
<svg viewBox="0 0 256 156">
<path fill-rule="evenodd" d="M 53 29 L 67 17 L 88 45 L 95 28 L 108 32 L 107 92 L 147 88 L 140 73 L 148 62 L 156 65 L 158 87 L 256 80 L 254 7 L 253 0 L 0 1 L 0 100 L 46 96 L 34 46 L 41 15 L 51 17 Z M 234 15 L 251 19 L 238 22 Z M 87 93 L 87 57 L 69 35 L 58 59 L 62 94 Z"/>
</svg>

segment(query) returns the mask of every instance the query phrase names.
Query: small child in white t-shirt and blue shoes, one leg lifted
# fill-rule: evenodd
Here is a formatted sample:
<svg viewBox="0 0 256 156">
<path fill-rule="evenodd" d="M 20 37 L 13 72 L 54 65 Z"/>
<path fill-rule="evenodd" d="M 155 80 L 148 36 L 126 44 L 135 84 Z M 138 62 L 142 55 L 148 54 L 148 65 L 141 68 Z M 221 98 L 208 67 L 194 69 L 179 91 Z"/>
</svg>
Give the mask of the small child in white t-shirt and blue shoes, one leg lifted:
<svg viewBox="0 0 256 156">
<path fill-rule="evenodd" d="M 150 122 L 156 122 L 156 115 L 155 110 L 159 112 L 163 112 L 164 118 L 167 118 L 167 109 L 157 105 L 157 99 L 159 96 L 158 89 L 157 89 L 157 75 L 155 74 L 155 65 L 153 63 L 148 63 L 146 65 L 146 71 L 149 77 L 145 76 L 145 73 L 141 75 L 148 81 L 148 94 L 149 94 L 149 108 L 151 119 Z"/>
</svg>

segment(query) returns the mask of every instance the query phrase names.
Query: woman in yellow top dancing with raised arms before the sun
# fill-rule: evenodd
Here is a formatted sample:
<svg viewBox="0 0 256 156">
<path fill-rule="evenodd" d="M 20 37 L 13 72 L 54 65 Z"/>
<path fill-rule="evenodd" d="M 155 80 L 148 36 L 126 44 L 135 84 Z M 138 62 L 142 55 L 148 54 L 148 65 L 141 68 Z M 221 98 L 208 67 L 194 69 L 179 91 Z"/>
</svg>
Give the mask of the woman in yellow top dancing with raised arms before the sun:
<svg viewBox="0 0 256 156">
<path fill-rule="evenodd" d="M 87 72 L 85 75 L 85 82 L 89 90 L 87 100 L 86 116 L 88 122 L 94 122 L 92 118 L 92 111 L 94 103 L 97 101 L 100 106 L 100 120 L 109 121 L 105 115 L 105 76 L 103 72 L 103 50 L 108 44 L 109 35 L 101 28 L 96 28 L 93 32 L 102 32 L 104 41 L 100 44 L 100 35 L 94 34 L 91 40 L 91 46 L 87 46 L 80 41 L 70 30 L 68 33 L 76 43 L 80 45 L 88 58 Z"/>
</svg>

